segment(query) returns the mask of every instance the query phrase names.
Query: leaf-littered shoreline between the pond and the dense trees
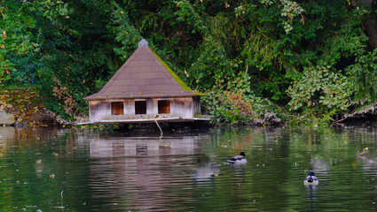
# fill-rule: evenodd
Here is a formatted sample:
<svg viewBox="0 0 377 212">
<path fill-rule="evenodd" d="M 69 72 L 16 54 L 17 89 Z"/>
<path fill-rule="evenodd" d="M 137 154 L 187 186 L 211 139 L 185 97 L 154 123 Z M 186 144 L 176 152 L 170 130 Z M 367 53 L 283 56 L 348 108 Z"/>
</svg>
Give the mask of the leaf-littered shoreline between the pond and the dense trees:
<svg viewBox="0 0 377 212">
<path fill-rule="evenodd" d="M 27 87 L 1 87 L 0 89 L 0 110 L 4 110 L 7 114 L 12 114 L 15 119 L 13 126 L 15 127 L 38 127 L 38 126 L 72 126 L 82 122 L 89 121 L 88 117 L 81 117 L 80 120 L 75 122 L 67 121 L 59 115 L 47 110 L 43 105 L 43 97 L 39 94 L 40 87 L 27 86 Z M 376 106 L 377 107 L 377 106 Z M 374 108 L 373 108 L 374 109 Z M 369 111 L 369 110 L 368 110 Z M 373 110 L 374 111 L 374 110 Z M 334 121 L 334 126 L 349 126 L 349 125 L 368 125 L 377 120 L 376 115 L 365 114 L 366 116 L 352 117 L 349 116 L 347 120 L 342 122 Z M 370 116 L 367 116 L 370 115 Z M 346 119 L 346 118 L 345 118 Z M 1 122 L 0 122 L 1 124 Z M 295 122 L 292 120 L 292 123 Z M 140 124 L 135 124 L 140 125 Z M 264 118 L 255 119 L 253 123 L 237 122 L 232 124 L 224 124 L 210 122 L 208 125 L 229 125 L 229 126 L 287 126 L 290 125 L 289 121 L 281 121 L 274 113 L 266 113 Z M 305 124 L 299 124 L 305 125 Z M 93 124 L 90 124 L 93 126 Z M 97 125 L 99 126 L 99 125 Z M 318 125 L 312 125 L 314 127 Z M 328 125 L 330 126 L 330 125 Z M 86 128 L 85 126 L 81 126 Z M 122 128 L 122 127 L 120 127 Z"/>
</svg>

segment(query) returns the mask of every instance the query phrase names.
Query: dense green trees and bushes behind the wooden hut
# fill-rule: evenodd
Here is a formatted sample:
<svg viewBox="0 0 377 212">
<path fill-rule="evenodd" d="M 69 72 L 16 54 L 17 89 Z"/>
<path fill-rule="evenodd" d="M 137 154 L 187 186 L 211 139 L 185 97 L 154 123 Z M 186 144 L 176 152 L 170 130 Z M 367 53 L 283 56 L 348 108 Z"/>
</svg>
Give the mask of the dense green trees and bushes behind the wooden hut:
<svg viewBox="0 0 377 212">
<path fill-rule="evenodd" d="M 374 0 L 6 0 L 0 83 L 85 116 L 145 38 L 220 122 L 326 124 L 377 98 Z"/>
</svg>

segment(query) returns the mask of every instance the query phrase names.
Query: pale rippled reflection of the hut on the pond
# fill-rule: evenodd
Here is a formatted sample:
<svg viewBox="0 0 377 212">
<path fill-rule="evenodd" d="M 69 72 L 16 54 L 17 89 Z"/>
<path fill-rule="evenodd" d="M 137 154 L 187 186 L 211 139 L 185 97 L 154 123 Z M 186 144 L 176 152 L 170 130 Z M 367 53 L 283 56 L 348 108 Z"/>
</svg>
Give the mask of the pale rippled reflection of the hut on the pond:
<svg viewBox="0 0 377 212">
<path fill-rule="evenodd" d="M 198 140 L 209 138 L 80 138 L 94 159 L 90 163 L 91 202 L 111 198 L 108 207 L 112 208 L 165 211 L 177 209 L 175 202 L 184 196 L 185 201 L 192 201 L 192 173 L 198 179 L 203 171 L 215 169 L 211 164 L 197 167 L 192 163 L 202 151 Z M 181 193 L 173 192 L 183 187 Z"/>
</svg>

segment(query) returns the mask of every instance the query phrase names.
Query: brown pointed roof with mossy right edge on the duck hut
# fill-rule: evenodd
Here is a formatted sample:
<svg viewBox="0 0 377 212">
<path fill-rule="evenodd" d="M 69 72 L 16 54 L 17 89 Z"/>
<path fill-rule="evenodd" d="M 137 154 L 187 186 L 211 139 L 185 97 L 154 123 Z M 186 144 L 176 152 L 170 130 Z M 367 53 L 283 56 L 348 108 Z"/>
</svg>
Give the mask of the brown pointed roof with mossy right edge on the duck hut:
<svg viewBox="0 0 377 212">
<path fill-rule="evenodd" d="M 85 100 L 195 96 L 143 39 L 137 50 L 97 94 Z"/>
</svg>

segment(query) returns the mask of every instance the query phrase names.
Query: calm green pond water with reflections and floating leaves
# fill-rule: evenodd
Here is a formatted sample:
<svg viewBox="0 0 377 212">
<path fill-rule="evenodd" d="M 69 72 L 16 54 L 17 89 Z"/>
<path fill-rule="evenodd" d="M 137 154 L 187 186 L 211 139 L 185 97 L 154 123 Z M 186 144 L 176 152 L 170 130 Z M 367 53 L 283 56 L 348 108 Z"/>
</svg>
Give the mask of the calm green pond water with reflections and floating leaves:
<svg viewBox="0 0 377 212">
<path fill-rule="evenodd" d="M 375 211 L 377 127 L 0 127 L 0 211 Z M 244 151 L 247 164 L 226 160 Z M 360 154 L 364 152 L 363 154 Z M 314 170 L 318 186 L 304 186 Z"/>
</svg>

